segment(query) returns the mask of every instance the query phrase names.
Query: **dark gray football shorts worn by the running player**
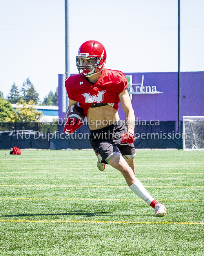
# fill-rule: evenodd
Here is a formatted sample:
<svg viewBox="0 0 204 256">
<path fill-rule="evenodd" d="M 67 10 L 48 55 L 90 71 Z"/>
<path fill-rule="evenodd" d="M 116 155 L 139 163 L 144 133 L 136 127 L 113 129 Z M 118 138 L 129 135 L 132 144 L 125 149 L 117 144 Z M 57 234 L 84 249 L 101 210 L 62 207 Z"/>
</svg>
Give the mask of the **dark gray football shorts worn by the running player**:
<svg viewBox="0 0 204 256">
<path fill-rule="evenodd" d="M 125 159 L 135 157 L 133 143 L 121 143 L 122 134 L 127 133 L 127 126 L 124 121 L 119 120 L 115 124 L 98 130 L 90 130 L 90 132 L 89 142 L 93 150 L 102 157 L 102 163 L 109 163 L 109 160 L 116 154 L 122 155 Z"/>
</svg>

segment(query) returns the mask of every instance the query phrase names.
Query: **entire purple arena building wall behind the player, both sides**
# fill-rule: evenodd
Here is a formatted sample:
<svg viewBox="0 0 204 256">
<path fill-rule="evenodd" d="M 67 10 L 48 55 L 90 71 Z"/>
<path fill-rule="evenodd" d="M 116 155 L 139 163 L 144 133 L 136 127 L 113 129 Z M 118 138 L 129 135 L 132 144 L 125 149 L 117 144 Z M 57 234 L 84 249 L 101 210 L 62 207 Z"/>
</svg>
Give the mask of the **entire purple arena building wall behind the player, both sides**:
<svg viewBox="0 0 204 256">
<path fill-rule="evenodd" d="M 133 94 L 132 105 L 135 117 L 142 120 L 177 120 L 177 72 L 125 73 L 132 75 L 132 83 L 141 83 L 144 75 L 144 87 L 156 86 L 162 94 Z M 62 75 L 59 74 L 58 106 L 59 117 L 62 113 Z M 133 85 L 135 89 L 135 85 Z M 204 116 L 204 72 L 180 72 L 180 120 L 183 115 Z M 120 105 L 120 119 L 124 112 Z"/>
</svg>

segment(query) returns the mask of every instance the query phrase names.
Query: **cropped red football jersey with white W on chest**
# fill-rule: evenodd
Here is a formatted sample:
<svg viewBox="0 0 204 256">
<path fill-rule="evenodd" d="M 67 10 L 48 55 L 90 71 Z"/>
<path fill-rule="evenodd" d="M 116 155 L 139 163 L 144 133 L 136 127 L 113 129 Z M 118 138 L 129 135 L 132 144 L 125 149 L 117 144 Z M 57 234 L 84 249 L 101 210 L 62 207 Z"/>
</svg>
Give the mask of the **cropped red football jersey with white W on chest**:
<svg viewBox="0 0 204 256">
<path fill-rule="evenodd" d="M 111 106 L 118 110 L 118 95 L 127 89 L 128 84 L 123 72 L 103 69 L 94 84 L 89 83 L 85 76 L 77 74 L 66 78 L 65 87 L 68 97 L 79 102 L 87 116 L 92 103 L 111 103 Z"/>
</svg>

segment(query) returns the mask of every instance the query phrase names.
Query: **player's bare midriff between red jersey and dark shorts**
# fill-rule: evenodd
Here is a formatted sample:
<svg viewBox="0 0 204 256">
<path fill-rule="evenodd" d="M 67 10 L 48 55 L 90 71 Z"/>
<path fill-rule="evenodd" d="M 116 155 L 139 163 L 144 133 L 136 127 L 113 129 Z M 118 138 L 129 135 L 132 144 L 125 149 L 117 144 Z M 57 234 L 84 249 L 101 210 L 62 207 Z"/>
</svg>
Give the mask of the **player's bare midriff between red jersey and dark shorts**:
<svg viewBox="0 0 204 256">
<path fill-rule="evenodd" d="M 89 108 L 86 118 L 91 130 L 104 128 L 120 120 L 118 111 L 109 105 Z"/>
</svg>

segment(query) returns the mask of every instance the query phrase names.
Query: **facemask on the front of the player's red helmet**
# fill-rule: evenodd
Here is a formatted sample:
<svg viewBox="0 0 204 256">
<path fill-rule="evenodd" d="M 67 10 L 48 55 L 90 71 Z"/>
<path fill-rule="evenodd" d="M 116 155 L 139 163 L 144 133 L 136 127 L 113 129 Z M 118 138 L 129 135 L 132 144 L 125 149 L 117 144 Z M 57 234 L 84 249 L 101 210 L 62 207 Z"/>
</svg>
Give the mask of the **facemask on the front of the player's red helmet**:
<svg viewBox="0 0 204 256">
<path fill-rule="evenodd" d="M 84 75 L 86 77 L 93 76 L 98 72 L 101 72 L 105 61 L 103 59 L 104 52 L 101 56 L 91 55 L 89 56 L 88 53 L 80 53 L 76 56 L 76 67 L 80 75 Z M 88 62 L 91 61 L 91 65 L 84 65 L 84 61 Z"/>
</svg>

